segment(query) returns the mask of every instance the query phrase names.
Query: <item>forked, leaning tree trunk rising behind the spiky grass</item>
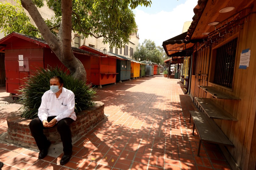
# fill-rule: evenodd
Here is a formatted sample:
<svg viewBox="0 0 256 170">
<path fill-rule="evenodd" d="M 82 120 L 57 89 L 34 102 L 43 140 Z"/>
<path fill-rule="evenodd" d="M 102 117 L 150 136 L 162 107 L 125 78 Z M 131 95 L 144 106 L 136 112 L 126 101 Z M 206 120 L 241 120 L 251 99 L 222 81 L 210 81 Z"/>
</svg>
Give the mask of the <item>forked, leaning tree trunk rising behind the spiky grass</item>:
<svg viewBox="0 0 256 170">
<path fill-rule="evenodd" d="M 71 48 L 71 31 L 72 31 L 72 0 L 62 0 L 62 22 L 58 36 L 56 37 L 38 12 L 36 6 L 31 0 L 21 0 L 22 6 L 28 11 L 38 30 L 44 37 L 59 60 L 66 66 L 73 77 L 86 81 L 86 71 L 83 64 L 74 56 Z"/>
</svg>

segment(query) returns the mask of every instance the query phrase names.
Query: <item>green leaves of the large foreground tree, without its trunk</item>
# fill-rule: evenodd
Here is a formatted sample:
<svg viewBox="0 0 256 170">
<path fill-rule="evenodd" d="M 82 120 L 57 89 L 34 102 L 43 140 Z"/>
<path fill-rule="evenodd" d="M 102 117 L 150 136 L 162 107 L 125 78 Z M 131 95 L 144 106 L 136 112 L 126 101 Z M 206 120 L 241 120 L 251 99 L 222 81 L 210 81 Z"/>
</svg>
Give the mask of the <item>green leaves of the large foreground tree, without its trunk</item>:
<svg viewBox="0 0 256 170">
<path fill-rule="evenodd" d="M 38 8 L 45 5 L 44 0 L 33 0 L 33 2 Z M 59 25 L 62 21 L 61 0 L 45 0 L 45 2 L 55 14 L 51 20 L 45 20 L 46 24 L 49 28 Z M 37 28 L 30 23 L 20 1 L 16 0 L 16 3 L 17 5 L 9 3 L 0 5 L 0 27 L 3 28 L 5 35 L 15 31 L 41 37 Z M 136 32 L 137 25 L 132 9 L 138 5 L 150 7 L 151 3 L 151 0 L 73 0 L 73 31 L 82 39 L 92 36 L 91 34 L 95 37 L 103 37 L 104 43 L 120 48 L 120 44 L 129 42 L 130 33 Z M 52 33 L 56 35 L 53 30 Z"/>
</svg>

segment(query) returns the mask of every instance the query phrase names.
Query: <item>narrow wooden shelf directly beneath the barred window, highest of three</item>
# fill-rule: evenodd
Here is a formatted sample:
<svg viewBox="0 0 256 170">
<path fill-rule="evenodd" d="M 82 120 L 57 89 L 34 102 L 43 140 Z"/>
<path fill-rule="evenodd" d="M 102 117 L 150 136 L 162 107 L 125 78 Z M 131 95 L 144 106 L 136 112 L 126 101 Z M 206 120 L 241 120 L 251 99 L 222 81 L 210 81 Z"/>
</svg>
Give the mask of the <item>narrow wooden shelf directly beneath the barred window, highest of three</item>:
<svg viewBox="0 0 256 170">
<path fill-rule="evenodd" d="M 203 89 L 205 92 L 211 94 L 213 97 L 217 99 L 228 99 L 228 100 L 240 100 L 240 98 L 232 96 L 230 94 L 223 93 L 211 86 L 198 86 Z"/>
</svg>

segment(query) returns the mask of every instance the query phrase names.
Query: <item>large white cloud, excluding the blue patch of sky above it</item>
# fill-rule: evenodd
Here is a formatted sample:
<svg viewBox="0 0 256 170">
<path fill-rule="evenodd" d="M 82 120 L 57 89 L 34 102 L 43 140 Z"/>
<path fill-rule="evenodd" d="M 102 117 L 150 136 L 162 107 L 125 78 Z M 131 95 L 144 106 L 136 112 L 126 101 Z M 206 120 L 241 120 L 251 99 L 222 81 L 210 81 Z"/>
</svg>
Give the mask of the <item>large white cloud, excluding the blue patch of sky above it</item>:
<svg viewBox="0 0 256 170">
<path fill-rule="evenodd" d="M 184 4 L 176 6 L 171 12 L 161 11 L 156 14 L 135 9 L 140 43 L 144 39 L 151 39 L 157 46 L 162 46 L 163 41 L 181 34 L 184 22 L 192 21 L 193 9 L 196 5 L 197 0 L 187 0 Z"/>
</svg>

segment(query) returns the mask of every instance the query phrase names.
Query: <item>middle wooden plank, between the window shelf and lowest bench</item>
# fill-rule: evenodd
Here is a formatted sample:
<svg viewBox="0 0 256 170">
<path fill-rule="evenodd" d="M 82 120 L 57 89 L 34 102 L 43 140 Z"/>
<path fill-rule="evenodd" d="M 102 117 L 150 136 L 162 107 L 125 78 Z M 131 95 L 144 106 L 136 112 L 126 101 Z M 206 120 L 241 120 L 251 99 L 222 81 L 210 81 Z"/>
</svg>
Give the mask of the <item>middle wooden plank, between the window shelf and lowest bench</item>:
<svg viewBox="0 0 256 170">
<path fill-rule="evenodd" d="M 219 105 L 217 105 L 210 98 L 195 97 L 195 100 L 197 100 L 198 104 L 202 107 L 209 118 L 237 121 L 235 117 L 233 117 L 223 108 L 219 107 Z"/>
</svg>

